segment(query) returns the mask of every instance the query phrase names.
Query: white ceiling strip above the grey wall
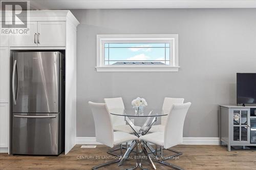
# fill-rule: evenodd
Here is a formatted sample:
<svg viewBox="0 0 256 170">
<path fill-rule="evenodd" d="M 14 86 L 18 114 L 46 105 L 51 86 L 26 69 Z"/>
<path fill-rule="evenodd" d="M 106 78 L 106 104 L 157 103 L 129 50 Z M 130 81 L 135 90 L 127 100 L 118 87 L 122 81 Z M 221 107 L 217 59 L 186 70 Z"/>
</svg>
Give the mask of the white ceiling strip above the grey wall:
<svg viewBox="0 0 256 170">
<path fill-rule="evenodd" d="M 256 8 L 256 0 L 33 0 L 30 8 L 141 9 L 141 8 Z"/>
</svg>

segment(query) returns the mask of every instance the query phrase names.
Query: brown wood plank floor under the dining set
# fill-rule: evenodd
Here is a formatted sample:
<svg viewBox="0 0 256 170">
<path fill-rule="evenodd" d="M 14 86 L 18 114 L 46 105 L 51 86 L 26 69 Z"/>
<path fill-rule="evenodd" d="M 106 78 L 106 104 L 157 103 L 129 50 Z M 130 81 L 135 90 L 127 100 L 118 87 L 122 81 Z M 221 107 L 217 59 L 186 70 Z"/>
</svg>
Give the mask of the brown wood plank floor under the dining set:
<svg viewBox="0 0 256 170">
<path fill-rule="evenodd" d="M 110 161 L 101 159 L 110 148 L 97 145 L 96 149 L 81 149 L 76 145 L 67 155 L 59 156 L 19 156 L 0 154 L 0 169 L 91 169 L 92 166 Z M 256 169 L 256 150 L 232 150 L 219 145 L 178 145 L 174 149 L 183 152 L 180 159 L 167 160 L 184 169 Z M 118 153 L 118 152 L 117 152 Z M 164 151 L 164 154 L 172 152 Z M 91 156 L 91 158 L 90 158 Z M 98 159 L 99 158 L 99 159 Z M 123 166 L 112 164 L 100 169 L 125 169 L 134 166 L 135 159 L 128 160 Z M 146 160 L 142 160 L 145 168 L 151 169 Z M 157 169 L 171 169 L 155 162 Z M 138 168 L 139 169 L 139 168 Z"/>
</svg>

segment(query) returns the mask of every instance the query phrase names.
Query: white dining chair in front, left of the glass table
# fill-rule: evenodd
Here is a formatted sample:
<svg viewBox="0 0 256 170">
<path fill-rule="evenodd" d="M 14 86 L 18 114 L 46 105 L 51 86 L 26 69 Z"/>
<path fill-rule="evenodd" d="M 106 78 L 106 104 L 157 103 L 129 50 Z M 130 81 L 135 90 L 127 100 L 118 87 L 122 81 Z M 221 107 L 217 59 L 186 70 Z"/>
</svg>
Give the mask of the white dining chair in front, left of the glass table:
<svg viewBox="0 0 256 170">
<path fill-rule="evenodd" d="M 93 113 L 96 141 L 100 142 L 110 148 L 114 145 L 120 144 L 120 157 L 117 160 L 102 163 L 100 165 L 94 166 L 92 169 L 97 169 L 106 165 L 110 165 L 119 162 L 122 157 L 122 143 L 138 140 L 138 137 L 129 133 L 113 131 L 113 124 L 110 117 L 110 112 L 106 107 L 105 103 L 93 103 L 89 102 Z"/>
</svg>

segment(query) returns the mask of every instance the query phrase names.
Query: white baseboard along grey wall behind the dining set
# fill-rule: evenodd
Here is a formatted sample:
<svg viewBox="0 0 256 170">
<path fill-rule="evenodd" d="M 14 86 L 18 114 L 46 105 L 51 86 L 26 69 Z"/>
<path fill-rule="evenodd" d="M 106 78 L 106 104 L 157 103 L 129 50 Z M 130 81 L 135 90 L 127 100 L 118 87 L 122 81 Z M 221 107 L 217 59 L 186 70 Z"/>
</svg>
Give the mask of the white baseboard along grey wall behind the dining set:
<svg viewBox="0 0 256 170">
<path fill-rule="evenodd" d="M 101 144 L 95 137 L 76 137 L 76 144 Z M 183 137 L 183 144 L 211 144 L 219 145 L 219 137 Z"/>
</svg>

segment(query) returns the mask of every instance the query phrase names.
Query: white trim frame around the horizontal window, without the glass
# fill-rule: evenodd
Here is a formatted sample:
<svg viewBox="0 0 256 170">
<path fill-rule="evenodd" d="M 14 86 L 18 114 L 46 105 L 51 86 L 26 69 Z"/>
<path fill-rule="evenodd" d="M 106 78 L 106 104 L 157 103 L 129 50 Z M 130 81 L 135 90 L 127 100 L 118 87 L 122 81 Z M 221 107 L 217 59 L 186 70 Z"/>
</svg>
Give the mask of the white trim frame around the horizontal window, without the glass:
<svg viewBox="0 0 256 170">
<path fill-rule="evenodd" d="M 170 42 L 173 53 L 170 54 L 170 65 L 104 65 L 104 43 L 106 42 Z M 122 72 L 122 71 L 178 71 L 179 48 L 178 34 L 140 34 L 140 35 L 97 35 L 97 66 L 99 72 Z"/>
</svg>

